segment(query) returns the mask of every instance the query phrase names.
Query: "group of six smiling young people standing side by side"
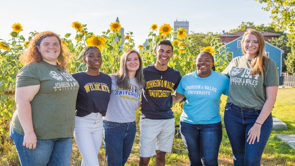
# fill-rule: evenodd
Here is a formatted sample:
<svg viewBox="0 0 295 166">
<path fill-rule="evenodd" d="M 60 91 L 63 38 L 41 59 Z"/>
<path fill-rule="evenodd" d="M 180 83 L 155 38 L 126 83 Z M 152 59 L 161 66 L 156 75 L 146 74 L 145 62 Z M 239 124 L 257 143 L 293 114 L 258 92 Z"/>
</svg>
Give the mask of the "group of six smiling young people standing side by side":
<svg viewBox="0 0 295 166">
<path fill-rule="evenodd" d="M 99 165 L 102 139 L 107 164 L 124 166 L 135 139 L 138 108 L 138 165 L 147 166 L 155 155 L 155 165 L 163 166 L 174 139 L 171 108 L 181 100 L 185 102 L 180 133 L 189 165 L 218 166 L 222 94 L 228 96 L 224 125 L 234 166 L 260 165 L 272 129 L 278 70 L 265 56 L 260 32 L 248 29 L 241 45 L 244 56 L 232 59 L 222 74 L 215 72 L 212 54 L 201 51 L 196 71 L 181 78 L 179 71 L 168 66 L 173 57 L 169 40 L 157 44 L 154 65 L 143 67 L 140 54 L 131 49 L 122 55 L 119 72 L 110 75 L 99 71 L 101 51 L 86 47 L 80 53 L 86 71 L 69 74 L 68 51 L 58 35 L 37 33 L 19 58 L 24 66 L 17 74 L 17 110 L 10 125 L 22 166 L 69 165 L 72 136 L 82 166 Z"/>
</svg>

